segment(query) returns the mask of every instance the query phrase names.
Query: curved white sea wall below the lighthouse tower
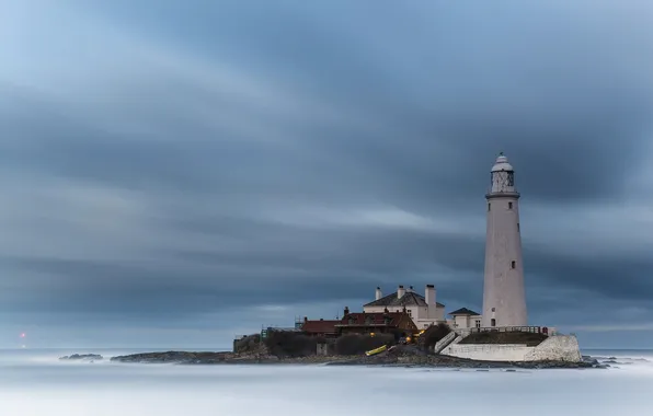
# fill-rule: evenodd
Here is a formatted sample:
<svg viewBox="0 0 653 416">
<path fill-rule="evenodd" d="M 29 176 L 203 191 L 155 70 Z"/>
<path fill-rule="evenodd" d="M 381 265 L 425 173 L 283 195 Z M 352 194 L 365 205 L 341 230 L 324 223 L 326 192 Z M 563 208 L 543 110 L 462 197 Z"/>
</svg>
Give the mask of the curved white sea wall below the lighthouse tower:
<svg viewBox="0 0 653 416">
<path fill-rule="evenodd" d="M 459 339 L 456 339 L 442 354 L 482 361 L 582 360 L 578 340 L 574 335 L 553 335 L 536 347 L 523 344 L 459 344 Z"/>
</svg>

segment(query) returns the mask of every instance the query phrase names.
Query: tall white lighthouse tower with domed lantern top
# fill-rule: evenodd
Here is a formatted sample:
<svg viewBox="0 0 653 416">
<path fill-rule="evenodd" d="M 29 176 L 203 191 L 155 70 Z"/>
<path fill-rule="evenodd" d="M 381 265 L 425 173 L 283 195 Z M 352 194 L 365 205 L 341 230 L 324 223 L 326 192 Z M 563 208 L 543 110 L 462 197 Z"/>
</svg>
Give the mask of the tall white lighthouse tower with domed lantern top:
<svg viewBox="0 0 653 416">
<path fill-rule="evenodd" d="M 515 188 L 515 171 L 503 153 L 492 166 L 491 187 L 485 198 L 488 231 L 482 325 L 526 326 L 519 193 Z"/>
</svg>

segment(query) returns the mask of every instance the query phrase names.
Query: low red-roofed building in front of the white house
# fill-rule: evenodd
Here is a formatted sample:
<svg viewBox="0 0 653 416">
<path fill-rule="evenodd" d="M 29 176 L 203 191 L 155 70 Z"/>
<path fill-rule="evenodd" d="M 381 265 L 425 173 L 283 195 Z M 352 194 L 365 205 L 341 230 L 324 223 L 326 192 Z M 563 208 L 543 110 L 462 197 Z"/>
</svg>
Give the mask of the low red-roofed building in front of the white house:
<svg viewBox="0 0 653 416">
<path fill-rule="evenodd" d="M 383 312 L 351 313 L 350 309 L 345 308 L 344 315 L 335 327 L 340 335 L 387 333 L 409 335 L 419 331 L 406 309 L 400 312 L 390 312 L 386 309 Z"/>
</svg>

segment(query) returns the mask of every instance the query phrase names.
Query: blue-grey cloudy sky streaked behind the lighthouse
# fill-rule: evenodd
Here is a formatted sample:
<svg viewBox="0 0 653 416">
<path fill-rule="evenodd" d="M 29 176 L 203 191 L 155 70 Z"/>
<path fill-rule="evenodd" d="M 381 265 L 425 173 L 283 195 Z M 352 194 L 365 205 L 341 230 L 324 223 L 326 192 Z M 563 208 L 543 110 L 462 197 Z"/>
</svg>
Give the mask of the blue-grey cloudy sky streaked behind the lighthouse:
<svg viewBox="0 0 653 416">
<path fill-rule="evenodd" d="M 219 347 L 380 286 L 653 342 L 653 7 L 0 0 L 0 347 Z M 25 333 L 25 338 L 20 334 Z"/>
</svg>

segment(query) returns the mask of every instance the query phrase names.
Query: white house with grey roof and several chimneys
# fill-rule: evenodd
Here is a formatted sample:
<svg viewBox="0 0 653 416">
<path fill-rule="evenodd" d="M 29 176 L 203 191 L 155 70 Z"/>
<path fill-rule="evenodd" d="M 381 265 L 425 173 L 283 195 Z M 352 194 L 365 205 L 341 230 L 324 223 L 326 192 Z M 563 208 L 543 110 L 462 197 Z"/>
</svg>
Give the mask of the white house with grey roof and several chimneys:
<svg viewBox="0 0 653 416">
<path fill-rule="evenodd" d="M 363 305 L 363 312 L 400 312 L 405 308 L 419 328 L 425 328 L 445 321 L 445 305 L 435 301 L 435 286 L 426 285 L 424 296 L 415 292 L 411 286 L 399 286 L 396 292 L 383 296 L 377 288 L 375 300 Z"/>
</svg>

